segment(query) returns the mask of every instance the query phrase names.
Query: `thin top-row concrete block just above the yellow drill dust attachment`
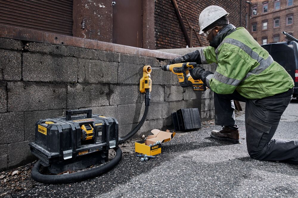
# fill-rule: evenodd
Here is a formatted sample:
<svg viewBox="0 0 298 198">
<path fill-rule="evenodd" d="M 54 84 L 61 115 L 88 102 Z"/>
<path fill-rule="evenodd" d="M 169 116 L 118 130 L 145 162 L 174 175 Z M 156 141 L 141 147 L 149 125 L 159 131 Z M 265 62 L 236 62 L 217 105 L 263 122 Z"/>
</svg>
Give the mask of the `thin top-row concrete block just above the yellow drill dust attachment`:
<svg viewBox="0 0 298 198">
<path fill-rule="evenodd" d="M 132 63 L 132 64 L 141 64 L 141 65 L 150 65 L 150 66 L 155 66 L 157 64 L 156 58 L 147 57 L 147 56 L 137 56 L 137 55 L 120 53 L 119 58 L 120 58 L 119 59 L 120 63 Z"/>
</svg>

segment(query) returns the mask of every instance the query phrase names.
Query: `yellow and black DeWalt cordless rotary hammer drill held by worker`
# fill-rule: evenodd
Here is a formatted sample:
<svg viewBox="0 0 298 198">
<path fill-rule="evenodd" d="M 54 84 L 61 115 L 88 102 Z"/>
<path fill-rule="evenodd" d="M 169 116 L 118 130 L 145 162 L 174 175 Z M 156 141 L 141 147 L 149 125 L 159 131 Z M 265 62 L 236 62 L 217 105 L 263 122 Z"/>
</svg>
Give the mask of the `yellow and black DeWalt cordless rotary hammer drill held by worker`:
<svg viewBox="0 0 298 198">
<path fill-rule="evenodd" d="M 194 80 L 188 69 L 196 67 L 197 64 L 192 63 L 176 63 L 162 66 L 162 70 L 170 71 L 177 75 L 181 87 L 193 87 L 193 91 L 206 91 L 206 86 L 201 79 Z"/>
</svg>

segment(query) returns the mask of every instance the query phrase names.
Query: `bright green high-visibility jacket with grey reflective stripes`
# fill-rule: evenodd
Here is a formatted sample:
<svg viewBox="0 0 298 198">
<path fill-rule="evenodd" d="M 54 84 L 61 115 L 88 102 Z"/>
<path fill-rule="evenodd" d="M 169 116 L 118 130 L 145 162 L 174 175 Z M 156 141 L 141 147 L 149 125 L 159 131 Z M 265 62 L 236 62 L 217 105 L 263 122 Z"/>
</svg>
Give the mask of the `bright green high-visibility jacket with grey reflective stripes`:
<svg viewBox="0 0 298 198">
<path fill-rule="evenodd" d="M 237 28 L 215 49 L 201 50 L 202 64 L 217 63 L 206 84 L 218 94 L 235 90 L 247 99 L 261 99 L 294 87 L 291 76 L 261 47 L 245 28 Z"/>
</svg>

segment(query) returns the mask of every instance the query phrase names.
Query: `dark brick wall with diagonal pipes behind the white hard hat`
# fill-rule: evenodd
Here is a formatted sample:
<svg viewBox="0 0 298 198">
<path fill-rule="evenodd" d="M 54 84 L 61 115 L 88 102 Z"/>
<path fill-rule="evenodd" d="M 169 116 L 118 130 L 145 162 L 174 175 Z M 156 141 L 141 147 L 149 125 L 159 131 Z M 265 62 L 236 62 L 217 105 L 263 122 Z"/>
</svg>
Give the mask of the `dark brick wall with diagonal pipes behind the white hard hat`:
<svg viewBox="0 0 298 198">
<path fill-rule="evenodd" d="M 188 18 L 190 24 L 199 32 L 199 14 L 203 9 L 210 5 L 221 6 L 230 13 L 230 23 L 236 27 L 246 27 L 246 7 L 248 4 L 244 0 L 176 0 L 183 22 L 190 35 L 190 29 L 187 25 L 185 17 Z M 184 48 L 187 42 L 181 30 L 179 20 L 176 16 L 174 6 L 171 0 L 156 0 L 154 11 L 154 28 L 155 28 L 155 47 L 156 49 Z M 203 46 L 209 45 L 205 37 L 200 36 Z M 199 43 L 195 34 L 193 34 L 193 46 L 199 47 Z"/>
</svg>

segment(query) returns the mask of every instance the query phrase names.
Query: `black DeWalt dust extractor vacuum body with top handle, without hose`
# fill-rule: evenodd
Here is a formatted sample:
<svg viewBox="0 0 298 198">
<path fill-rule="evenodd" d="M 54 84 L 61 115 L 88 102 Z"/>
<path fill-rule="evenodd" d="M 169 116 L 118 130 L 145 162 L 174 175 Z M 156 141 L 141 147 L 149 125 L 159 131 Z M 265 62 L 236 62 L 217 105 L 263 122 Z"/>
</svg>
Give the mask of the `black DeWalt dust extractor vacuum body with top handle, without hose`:
<svg viewBox="0 0 298 198">
<path fill-rule="evenodd" d="M 84 114 L 87 115 L 76 115 Z M 118 146 L 116 118 L 92 114 L 91 110 L 68 110 L 66 117 L 47 118 L 35 123 L 33 155 L 51 173 L 80 170 L 105 163 L 108 150 Z"/>
</svg>

